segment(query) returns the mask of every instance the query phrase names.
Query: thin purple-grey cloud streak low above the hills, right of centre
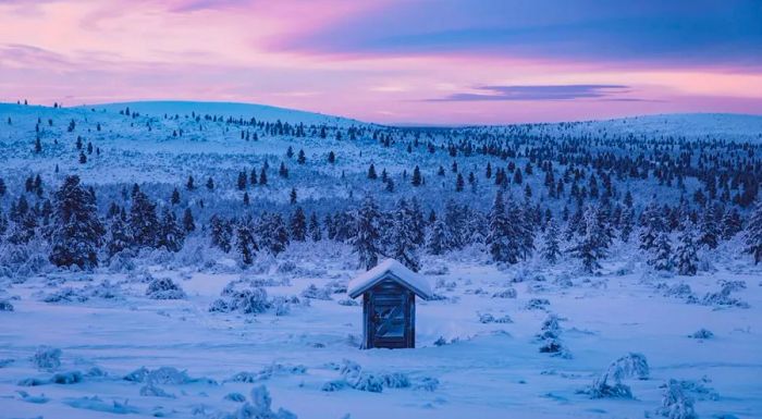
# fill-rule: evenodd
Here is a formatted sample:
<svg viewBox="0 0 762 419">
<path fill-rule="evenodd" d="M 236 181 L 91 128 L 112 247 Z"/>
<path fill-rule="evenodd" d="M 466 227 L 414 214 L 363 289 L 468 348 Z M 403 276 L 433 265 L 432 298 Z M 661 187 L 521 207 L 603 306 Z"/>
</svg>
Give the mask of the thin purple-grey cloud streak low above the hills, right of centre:
<svg viewBox="0 0 762 419">
<path fill-rule="evenodd" d="M 574 100 L 606 99 L 640 101 L 638 98 L 616 97 L 631 91 L 625 85 L 536 85 L 536 86 L 479 86 L 477 93 L 452 94 L 444 98 L 429 99 L 435 102 L 512 101 L 512 100 Z"/>
</svg>

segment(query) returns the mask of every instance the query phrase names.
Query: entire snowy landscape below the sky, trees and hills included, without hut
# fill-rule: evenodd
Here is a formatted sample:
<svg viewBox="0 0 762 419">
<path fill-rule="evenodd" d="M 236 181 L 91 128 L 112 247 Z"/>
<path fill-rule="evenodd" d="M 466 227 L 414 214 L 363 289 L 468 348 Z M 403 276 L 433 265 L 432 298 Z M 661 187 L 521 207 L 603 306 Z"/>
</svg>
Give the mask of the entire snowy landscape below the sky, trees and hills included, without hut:
<svg viewBox="0 0 762 419">
<path fill-rule="evenodd" d="M 762 417 L 760 144 L 732 114 L 0 103 L 0 418 Z M 371 247 L 434 292 L 415 349 L 359 348 Z"/>
</svg>

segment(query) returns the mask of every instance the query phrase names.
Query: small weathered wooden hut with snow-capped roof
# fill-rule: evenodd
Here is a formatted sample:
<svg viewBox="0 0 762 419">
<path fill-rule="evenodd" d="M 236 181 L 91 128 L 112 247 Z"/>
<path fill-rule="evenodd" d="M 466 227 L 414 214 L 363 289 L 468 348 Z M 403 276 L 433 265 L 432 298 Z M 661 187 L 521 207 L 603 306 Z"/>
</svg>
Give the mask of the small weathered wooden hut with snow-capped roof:
<svg viewBox="0 0 762 419">
<path fill-rule="evenodd" d="M 362 348 L 416 347 L 416 295 L 433 296 L 426 278 L 386 259 L 352 280 L 347 294 L 362 296 Z"/>
</svg>

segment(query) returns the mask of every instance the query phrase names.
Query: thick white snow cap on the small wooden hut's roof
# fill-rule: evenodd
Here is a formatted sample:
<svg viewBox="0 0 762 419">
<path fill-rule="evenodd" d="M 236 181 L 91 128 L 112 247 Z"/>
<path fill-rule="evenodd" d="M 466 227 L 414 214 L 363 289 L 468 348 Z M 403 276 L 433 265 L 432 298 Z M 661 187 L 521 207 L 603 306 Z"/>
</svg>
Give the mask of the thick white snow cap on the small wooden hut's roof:
<svg viewBox="0 0 762 419">
<path fill-rule="evenodd" d="M 410 288 L 410 291 L 423 299 L 429 299 L 433 296 L 431 285 L 423 275 L 413 272 L 394 259 L 385 259 L 373 269 L 362 272 L 354 280 L 349 281 L 347 294 L 349 294 L 352 298 L 357 298 L 377 283 L 390 278 L 389 274 L 391 274 L 392 280 Z"/>
</svg>

